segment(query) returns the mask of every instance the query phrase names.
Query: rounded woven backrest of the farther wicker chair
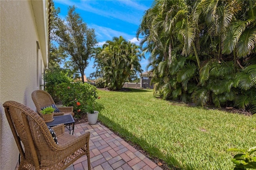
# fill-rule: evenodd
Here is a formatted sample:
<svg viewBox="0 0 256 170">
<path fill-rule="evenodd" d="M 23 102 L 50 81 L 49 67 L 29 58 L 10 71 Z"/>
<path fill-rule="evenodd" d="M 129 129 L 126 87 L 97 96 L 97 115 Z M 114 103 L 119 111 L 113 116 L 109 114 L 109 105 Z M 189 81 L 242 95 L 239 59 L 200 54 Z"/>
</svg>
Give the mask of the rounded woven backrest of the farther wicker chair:
<svg viewBox="0 0 256 170">
<path fill-rule="evenodd" d="M 32 100 L 36 106 L 38 114 L 40 114 L 41 108 L 55 104 L 52 96 L 43 90 L 35 90 L 32 92 Z"/>
</svg>

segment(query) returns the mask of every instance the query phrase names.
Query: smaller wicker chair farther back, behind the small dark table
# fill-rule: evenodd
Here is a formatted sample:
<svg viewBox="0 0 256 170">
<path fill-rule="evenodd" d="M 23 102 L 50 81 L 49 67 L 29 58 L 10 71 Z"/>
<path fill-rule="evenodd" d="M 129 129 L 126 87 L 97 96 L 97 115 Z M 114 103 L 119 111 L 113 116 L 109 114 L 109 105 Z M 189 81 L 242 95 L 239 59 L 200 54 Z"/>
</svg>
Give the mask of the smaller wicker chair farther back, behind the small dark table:
<svg viewBox="0 0 256 170">
<path fill-rule="evenodd" d="M 36 105 L 37 113 L 42 117 L 42 114 L 40 113 L 41 108 L 50 106 L 52 104 L 55 105 L 52 96 L 43 90 L 35 90 L 32 92 L 32 100 L 34 104 Z M 61 115 L 72 115 L 73 113 L 73 107 L 58 107 L 60 112 L 54 113 L 54 116 L 61 116 Z"/>
</svg>

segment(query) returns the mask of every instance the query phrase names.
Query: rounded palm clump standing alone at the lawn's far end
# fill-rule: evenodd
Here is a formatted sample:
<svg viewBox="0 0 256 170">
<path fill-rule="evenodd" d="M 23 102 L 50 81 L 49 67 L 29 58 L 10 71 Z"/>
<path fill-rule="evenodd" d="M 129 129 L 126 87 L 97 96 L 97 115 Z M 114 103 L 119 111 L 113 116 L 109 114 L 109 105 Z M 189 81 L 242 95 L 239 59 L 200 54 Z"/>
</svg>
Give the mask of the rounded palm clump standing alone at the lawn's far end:
<svg viewBox="0 0 256 170">
<path fill-rule="evenodd" d="M 138 45 L 120 36 L 106 41 L 102 49 L 97 49 L 94 65 L 99 73 L 103 73 L 107 86 L 119 90 L 128 77 L 142 72 L 139 63 L 142 57 L 144 55 Z"/>
</svg>

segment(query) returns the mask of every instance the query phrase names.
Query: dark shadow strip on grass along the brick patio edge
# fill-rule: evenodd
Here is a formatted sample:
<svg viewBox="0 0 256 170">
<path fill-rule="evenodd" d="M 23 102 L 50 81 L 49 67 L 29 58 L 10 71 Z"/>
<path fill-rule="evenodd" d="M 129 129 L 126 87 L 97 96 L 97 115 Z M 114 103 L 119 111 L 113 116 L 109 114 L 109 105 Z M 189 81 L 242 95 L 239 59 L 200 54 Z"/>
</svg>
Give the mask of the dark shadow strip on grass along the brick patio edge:
<svg viewBox="0 0 256 170">
<path fill-rule="evenodd" d="M 104 115 L 100 115 L 98 117 L 99 121 L 104 124 L 104 126 L 108 127 L 110 130 L 124 138 L 125 140 L 128 140 L 134 144 L 139 145 L 144 151 L 146 151 L 151 158 L 157 158 L 159 160 L 162 160 L 168 164 L 168 168 L 170 170 L 180 170 L 181 167 L 176 158 L 172 157 L 171 154 L 168 154 L 167 156 L 164 156 L 160 150 L 158 150 L 156 147 L 148 144 L 148 142 L 142 138 L 138 138 L 134 136 L 131 132 L 128 132 L 128 130 L 122 128 L 119 124 L 114 123 Z M 157 162 L 156 162 L 157 163 Z M 162 167 L 164 168 L 164 166 Z M 166 167 L 167 168 L 167 167 Z"/>
</svg>

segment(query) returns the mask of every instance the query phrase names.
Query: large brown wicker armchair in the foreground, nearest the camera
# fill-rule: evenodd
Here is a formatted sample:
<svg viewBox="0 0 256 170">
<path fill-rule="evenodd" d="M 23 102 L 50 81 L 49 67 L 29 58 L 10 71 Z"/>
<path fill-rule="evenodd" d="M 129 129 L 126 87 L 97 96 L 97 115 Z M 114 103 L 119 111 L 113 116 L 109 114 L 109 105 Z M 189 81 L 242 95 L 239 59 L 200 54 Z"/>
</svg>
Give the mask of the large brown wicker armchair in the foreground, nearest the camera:
<svg viewBox="0 0 256 170">
<path fill-rule="evenodd" d="M 63 124 L 57 125 L 52 127 L 58 137 L 56 144 L 36 112 L 15 101 L 6 101 L 3 106 L 20 151 L 19 169 L 62 170 L 87 155 L 90 170 L 90 132 L 76 137 L 64 132 Z"/>
</svg>

